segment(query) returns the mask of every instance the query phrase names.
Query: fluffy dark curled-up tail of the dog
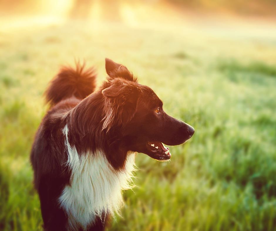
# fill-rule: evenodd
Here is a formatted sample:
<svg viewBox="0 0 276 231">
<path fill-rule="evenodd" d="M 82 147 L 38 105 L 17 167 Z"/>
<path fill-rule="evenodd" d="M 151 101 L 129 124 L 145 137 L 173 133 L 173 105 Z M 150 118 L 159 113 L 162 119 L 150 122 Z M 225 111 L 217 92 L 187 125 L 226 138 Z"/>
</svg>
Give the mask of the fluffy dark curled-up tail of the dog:
<svg viewBox="0 0 276 231">
<path fill-rule="evenodd" d="M 63 99 L 75 96 L 84 99 L 96 87 L 96 74 L 92 67 L 84 71 L 85 63 L 76 63 L 76 69 L 62 67 L 44 92 L 46 102 L 54 106 Z"/>
</svg>

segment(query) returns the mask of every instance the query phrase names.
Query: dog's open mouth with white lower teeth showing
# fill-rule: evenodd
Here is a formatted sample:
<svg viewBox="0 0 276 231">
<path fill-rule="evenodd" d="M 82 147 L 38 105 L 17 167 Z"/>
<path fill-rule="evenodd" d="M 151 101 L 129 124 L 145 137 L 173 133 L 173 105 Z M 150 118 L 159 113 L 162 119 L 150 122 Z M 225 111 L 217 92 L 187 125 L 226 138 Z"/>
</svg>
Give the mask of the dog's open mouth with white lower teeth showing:
<svg viewBox="0 0 276 231">
<path fill-rule="evenodd" d="M 150 157 L 159 161 L 167 161 L 171 158 L 171 153 L 168 147 L 157 140 L 148 142 L 148 150 L 150 151 Z"/>
</svg>

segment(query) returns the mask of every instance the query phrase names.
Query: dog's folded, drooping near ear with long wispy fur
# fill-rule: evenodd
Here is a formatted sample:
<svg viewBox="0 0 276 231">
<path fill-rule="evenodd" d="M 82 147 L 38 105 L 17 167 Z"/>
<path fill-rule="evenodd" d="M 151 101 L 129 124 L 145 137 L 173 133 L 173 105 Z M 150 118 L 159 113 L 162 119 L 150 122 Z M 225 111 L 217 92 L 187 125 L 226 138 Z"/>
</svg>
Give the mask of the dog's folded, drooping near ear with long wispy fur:
<svg viewBox="0 0 276 231">
<path fill-rule="evenodd" d="M 138 84 L 122 78 L 112 80 L 110 87 L 102 90 L 105 98 L 102 130 L 109 130 L 112 125 L 124 125 L 133 118 L 140 91 Z"/>
</svg>

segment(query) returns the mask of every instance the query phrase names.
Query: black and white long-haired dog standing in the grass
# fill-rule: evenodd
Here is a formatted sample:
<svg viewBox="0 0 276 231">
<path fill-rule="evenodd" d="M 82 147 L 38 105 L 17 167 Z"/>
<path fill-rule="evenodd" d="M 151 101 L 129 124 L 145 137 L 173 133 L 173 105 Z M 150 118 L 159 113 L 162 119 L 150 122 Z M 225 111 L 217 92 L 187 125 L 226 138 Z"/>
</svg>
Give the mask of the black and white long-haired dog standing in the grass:
<svg viewBox="0 0 276 231">
<path fill-rule="evenodd" d="M 137 152 L 168 161 L 166 145 L 191 138 L 190 125 L 167 115 L 162 101 L 127 67 L 105 59 L 93 68 L 63 67 L 45 91 L 50 109 L 31 150 L 44 229 L 104 230 L 131 187 Z"/>
</svg>

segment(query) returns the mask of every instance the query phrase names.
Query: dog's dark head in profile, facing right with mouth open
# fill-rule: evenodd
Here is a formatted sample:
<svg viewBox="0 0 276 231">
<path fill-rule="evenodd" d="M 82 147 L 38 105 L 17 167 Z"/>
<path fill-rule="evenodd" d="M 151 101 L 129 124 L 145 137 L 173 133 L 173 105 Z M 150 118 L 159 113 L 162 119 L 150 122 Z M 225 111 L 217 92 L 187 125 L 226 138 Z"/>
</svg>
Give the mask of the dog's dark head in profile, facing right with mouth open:
<svg viewBox="0 0 276 231">
<path fill-rule="evenodd" d="M 125 66 L 105 59 L 105 68 L 109 77 L 102 90 L 103 130 L 120 127 L 120 137 L 129 151 L 142 152 L 160 161 L 169 160 L 171 154 L 164 144 L 183 144 L 193 135 L 193 127 L 166 114 L 154 91 L 138 84 Z"/>
</svg>

